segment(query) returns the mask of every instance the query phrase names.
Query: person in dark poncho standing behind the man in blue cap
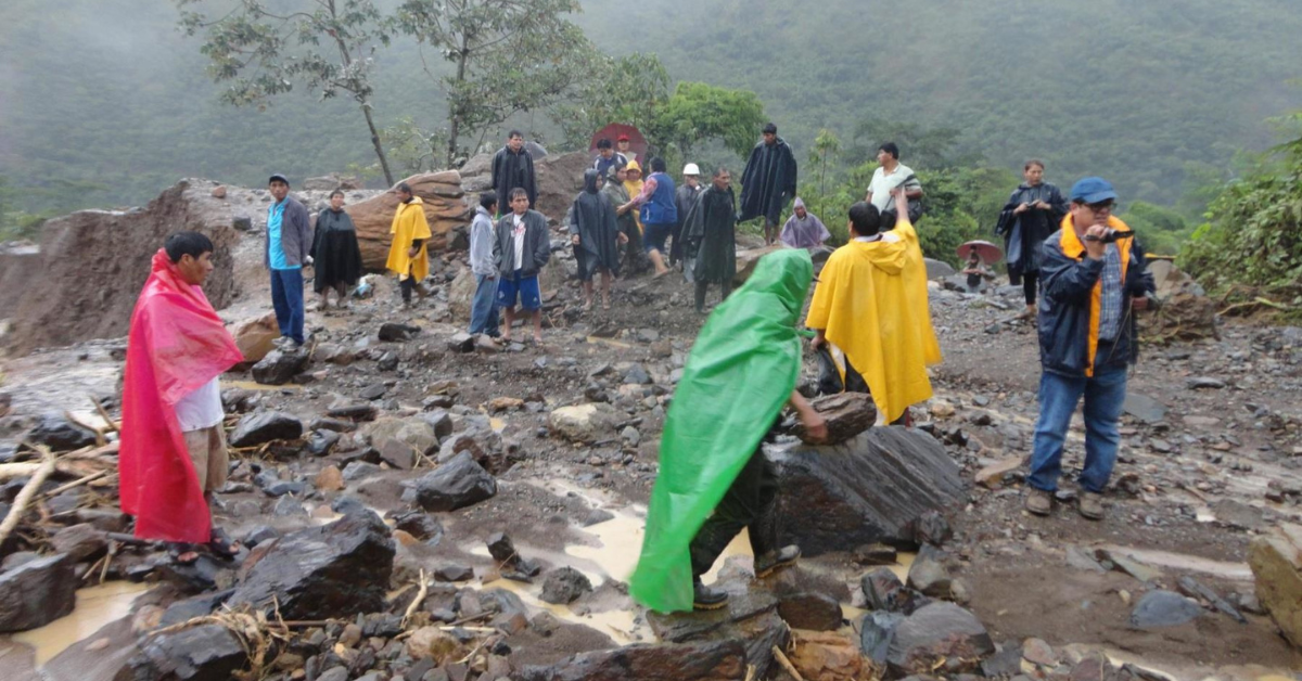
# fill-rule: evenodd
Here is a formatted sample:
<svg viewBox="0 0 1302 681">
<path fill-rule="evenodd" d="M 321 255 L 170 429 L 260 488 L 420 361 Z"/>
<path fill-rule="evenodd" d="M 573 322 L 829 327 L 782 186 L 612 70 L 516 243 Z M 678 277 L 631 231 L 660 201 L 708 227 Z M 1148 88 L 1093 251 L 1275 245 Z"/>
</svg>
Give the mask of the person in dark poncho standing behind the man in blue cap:
<svg viewBox="0 0 1302 681">
<path fill-rule="evenodd" d="M 1022 316 L 1032 318 L 1044 240 L 1057 230 L 1068 208 L 1059 188 L 1044 181 L 1044 161 L 1026 161 L 1022 177 L 1026 181 L 1008 198 L 1008 204 L 999 214 L 995 232 L 1004 237 L 1008 281 L 1013 285 L 1022 284 L 1026 296 L 1026 311 Z"/>
</svg>

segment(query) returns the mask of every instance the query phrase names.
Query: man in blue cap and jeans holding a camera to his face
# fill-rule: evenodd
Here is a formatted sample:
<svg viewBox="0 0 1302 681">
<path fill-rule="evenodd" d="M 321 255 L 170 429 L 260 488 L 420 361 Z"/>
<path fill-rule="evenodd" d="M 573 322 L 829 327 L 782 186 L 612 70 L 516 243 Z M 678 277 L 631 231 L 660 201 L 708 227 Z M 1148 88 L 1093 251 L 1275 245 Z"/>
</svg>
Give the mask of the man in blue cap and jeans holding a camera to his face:
<svg viewBox="0 0 1302 681">
<path fill-rule="evenodd" d="M 1079 512 L 1103 518 L 1103 490 L 1117 461 L 1126 370 L 1138 358 L 1135 310 L 1154 292 L 1143 249 L 1112 215 L 1117 193 L 1101 177 L 1072 185 L 1062 228 L 1040 260 L 1040 415 L 1035 423 L 1026 510 L 1047 516 L 1062 474 L 1062 445 L 1085 397 Z"/>
</svg>

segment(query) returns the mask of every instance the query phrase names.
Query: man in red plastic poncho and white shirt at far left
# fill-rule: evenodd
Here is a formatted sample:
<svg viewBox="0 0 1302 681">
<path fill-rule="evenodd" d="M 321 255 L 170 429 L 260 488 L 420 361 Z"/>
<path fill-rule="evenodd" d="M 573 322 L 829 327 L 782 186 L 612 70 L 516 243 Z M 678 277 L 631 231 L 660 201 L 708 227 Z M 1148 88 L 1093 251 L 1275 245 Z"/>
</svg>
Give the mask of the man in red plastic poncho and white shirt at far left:
<svg viewBox="0 0 1302 681">
<path fill-rule="evenodd" d="M 217 376 L 243 355 L 201 288 L 212 253 L 208 237 L 180 232 L 154 254 L 126 344 L 118 490 L 135 536 L 230 556 L 208 504 L 229 467 Z"/>
</svg>

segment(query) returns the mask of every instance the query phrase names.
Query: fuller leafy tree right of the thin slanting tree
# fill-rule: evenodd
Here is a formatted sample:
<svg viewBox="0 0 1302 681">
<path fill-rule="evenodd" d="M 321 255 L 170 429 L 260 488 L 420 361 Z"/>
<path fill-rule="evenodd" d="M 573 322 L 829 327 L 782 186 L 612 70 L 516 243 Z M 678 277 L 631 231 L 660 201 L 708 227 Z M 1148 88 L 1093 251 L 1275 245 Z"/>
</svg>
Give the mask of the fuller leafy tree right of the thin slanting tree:
<svg viewBox="0 0 1302 681">
<path fill-rule="evenodd" d="M 516 113 L 574 92 L 602 60 L 582 29 L 565 20 L 575 0 L 405 0 L 393 26 L 421 43 L 426 73 L 448 98 L 447 161 L 462 135 L 478 137 Z M 436 74 L 424 47 L 452 64 Z"/>
</svg>

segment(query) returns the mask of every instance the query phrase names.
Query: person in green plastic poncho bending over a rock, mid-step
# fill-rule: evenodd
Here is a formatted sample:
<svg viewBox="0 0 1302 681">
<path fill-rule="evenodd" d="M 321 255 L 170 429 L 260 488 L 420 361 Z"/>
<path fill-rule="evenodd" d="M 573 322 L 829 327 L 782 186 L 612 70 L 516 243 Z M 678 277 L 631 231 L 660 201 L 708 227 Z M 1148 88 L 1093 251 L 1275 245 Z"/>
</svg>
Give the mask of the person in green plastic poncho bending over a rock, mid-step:
<svg viewBox="0 0 1302 681">
<path fill-rule="evenodd" d="M 766 255 L 700 329 L 660 439 L 660 475 L 629 589 L 638 603 L 659 612 L 723 607 L 728 595 L 700 576 L 745 527 L 756 577 L 799 557 L 798 547 L 777 546 L 777 477 L 760 444 L 786 404 L 811 438 L 827 436 L 823 417 L 796 392 L 796 324 L 812 277 L 803 249 Z"/>
</svg>

